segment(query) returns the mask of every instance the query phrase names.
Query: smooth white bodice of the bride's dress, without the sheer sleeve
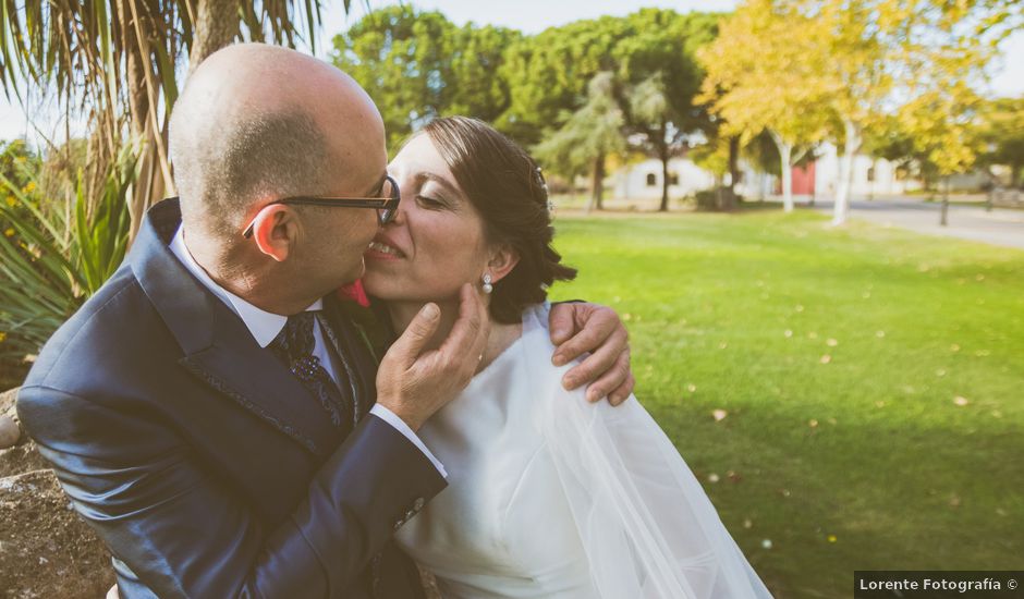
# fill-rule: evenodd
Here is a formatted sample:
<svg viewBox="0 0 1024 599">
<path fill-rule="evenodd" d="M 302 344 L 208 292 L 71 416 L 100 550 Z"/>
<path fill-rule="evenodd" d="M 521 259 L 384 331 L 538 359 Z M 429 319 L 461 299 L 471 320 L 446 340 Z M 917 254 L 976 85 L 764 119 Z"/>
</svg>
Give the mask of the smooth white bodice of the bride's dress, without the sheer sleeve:
<svg viewBox="0 0 1024 599">
<path fill-rule="evenodd" d="M 419 429 L 449 487 L 397 539 L 437 575 L 446 598 L 595 596 L 536 423 L 545 400 L 526 352 L 538 334 L 547 333 L 524 323 L 523 335 Z"/>
</svg>

